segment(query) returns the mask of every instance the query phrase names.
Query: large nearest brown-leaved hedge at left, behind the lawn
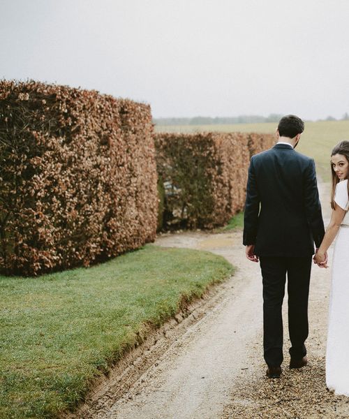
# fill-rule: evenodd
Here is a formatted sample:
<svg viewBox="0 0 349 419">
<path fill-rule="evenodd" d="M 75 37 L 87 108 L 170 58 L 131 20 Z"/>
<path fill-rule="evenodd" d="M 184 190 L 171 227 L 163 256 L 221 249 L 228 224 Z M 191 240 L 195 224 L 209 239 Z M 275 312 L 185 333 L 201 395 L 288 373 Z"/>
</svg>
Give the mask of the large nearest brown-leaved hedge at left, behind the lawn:
<svg viewBox="0 0 349 419">
<path fill-rule="evenodd" d="M 38 274 L 154 240 L 149 105 L 40 82 L 0 82 L 0 267 Z"/>
</svg>

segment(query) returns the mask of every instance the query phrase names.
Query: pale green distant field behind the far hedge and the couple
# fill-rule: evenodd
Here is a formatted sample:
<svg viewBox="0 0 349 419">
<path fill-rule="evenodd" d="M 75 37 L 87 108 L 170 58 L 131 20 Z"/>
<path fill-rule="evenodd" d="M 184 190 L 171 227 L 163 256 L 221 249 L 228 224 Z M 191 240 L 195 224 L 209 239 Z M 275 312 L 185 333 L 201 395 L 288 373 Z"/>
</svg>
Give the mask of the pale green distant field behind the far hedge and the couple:
<svg viewBox="0 0 349 419">
<path fill-rule="evenodd" d="M 178 125 L 156 126 L 156 131 L 194 133 L 202 131 L 274 133 L 276 123 L 234 125 Z M 349 121 L 306 122 L 297 151 L 313 157 L 318 175 L 330 180 L 329 158 L 331 150 L 340 140 L 349 140 Z"/>
</svg>

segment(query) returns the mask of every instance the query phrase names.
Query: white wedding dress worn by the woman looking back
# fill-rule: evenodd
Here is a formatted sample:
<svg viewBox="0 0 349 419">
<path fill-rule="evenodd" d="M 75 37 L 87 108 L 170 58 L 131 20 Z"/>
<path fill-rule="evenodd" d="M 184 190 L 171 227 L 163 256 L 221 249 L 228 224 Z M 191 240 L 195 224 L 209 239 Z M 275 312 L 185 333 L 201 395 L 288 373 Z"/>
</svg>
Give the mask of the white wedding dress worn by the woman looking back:
<svg viewBox="0 0 349 419">
<path fill-rule="evenodd" d="M 334 200 L 343 210 L 348 210 L 348 179 L 336 185 Z M 326 385 L 336 395 L 349 396 L 349 212 L 344 216 L 334 244 Z"/>
</svg>

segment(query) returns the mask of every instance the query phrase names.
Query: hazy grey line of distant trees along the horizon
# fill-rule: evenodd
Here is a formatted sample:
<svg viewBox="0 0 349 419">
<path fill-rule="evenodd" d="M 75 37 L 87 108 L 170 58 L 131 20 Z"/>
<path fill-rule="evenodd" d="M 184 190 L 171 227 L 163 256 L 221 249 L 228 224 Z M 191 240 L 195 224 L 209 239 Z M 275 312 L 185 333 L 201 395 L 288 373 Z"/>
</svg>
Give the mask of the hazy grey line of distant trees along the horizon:
<svg viewBox="0 0 349 419">
<path fill-rule="evenodd" d="M 214 125 L 214 124 L 258 124 L 262 122 L 279 122 L 283 115 L 270 114 L 269 117 L 260 115 L 239 115 L 239 117 L 193 117 L 193 118 L 154 118 L 156 125 Z M 319 121 L 347 121 L 349 120 L 348 112 L 341 119 L 328 116 Z"/>
</svg>

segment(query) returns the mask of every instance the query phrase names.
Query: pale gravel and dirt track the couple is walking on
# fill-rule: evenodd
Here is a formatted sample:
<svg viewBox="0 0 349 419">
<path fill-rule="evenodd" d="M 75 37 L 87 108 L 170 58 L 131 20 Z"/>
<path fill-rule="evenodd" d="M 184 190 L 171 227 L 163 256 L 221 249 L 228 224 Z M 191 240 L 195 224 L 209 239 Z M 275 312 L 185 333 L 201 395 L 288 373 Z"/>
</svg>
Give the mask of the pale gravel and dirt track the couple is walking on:
<svg viewBox="0 0 349 419">
<path fill-rule="evenodd" d="M 325 224 L 329 185 L 320 184 Z M 348 418 L 349 399 L 325 385 L 331 270 L 313 267 L 309 301 L 309 365 L 288 369 L 287 304 L 279 380 L 262 359 L 262 281 L 244 256 L 242 231 L 161 235 L 164 247 L 204 249 L 227 258 L 235 275 L 151 335 L 69 417 L 98 419 Z M 331 252 L 329 263 L 331 263 Z M 285 297 L 287 302 L 287 295 Z"/>
</svg>

